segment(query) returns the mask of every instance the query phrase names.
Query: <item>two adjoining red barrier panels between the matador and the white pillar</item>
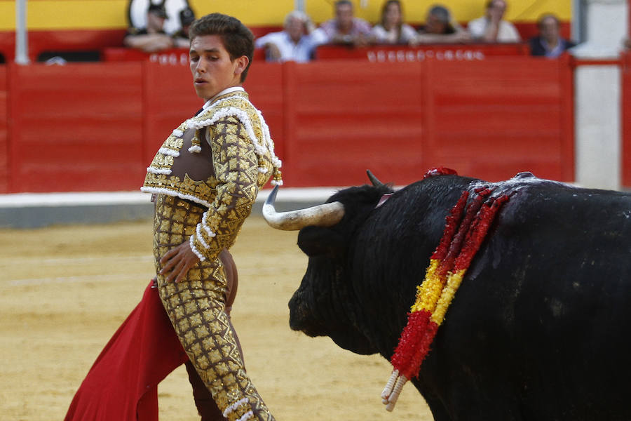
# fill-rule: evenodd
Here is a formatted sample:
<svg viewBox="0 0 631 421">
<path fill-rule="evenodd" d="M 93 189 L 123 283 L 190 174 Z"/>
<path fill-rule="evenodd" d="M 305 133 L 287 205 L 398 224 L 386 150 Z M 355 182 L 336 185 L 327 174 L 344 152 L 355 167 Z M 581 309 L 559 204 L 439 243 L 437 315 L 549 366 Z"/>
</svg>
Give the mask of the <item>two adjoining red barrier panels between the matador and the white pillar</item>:
<svg viewBox="0 0 631 421">
<path fill-rule="evenodd" d="M 432 166 L 574 179 L 566 58 L 286 66 L 291 185 L 354 185 L 367 168 L 407 184 Z"/>
</svg>

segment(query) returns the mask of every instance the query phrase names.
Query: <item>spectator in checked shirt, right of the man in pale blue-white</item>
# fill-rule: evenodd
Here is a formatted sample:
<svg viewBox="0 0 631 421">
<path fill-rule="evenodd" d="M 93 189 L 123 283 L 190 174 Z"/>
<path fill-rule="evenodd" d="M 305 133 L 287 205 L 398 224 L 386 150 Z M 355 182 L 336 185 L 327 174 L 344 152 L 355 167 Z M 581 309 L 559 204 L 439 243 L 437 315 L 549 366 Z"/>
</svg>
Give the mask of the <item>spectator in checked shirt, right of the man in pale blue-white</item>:
<svg viewBox="0 0 631 421">
<path fill-rule="evenodd" d="M 335 2 L 335 18 L 318 28 L 318 39 L 328 44 L 367 46 L 374 42 L 368 22 L 353 15 L 353 3 L 349 0 Z M 320 35 L 321 33 L 321 35 Z"/>
</svg>

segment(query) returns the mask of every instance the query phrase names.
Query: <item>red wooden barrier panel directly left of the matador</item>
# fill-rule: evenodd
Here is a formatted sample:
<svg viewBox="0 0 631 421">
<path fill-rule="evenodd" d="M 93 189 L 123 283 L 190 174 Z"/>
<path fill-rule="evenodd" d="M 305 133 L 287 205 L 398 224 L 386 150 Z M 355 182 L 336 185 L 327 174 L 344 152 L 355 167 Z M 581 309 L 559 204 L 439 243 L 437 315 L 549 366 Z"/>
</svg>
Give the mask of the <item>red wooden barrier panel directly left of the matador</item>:
<svg viewBox="0 0 631 421">
<path fill-rule="evenodd" d="M 10 65 L 10 192 L 137 189 L 140 63 Z"/>
</svg>

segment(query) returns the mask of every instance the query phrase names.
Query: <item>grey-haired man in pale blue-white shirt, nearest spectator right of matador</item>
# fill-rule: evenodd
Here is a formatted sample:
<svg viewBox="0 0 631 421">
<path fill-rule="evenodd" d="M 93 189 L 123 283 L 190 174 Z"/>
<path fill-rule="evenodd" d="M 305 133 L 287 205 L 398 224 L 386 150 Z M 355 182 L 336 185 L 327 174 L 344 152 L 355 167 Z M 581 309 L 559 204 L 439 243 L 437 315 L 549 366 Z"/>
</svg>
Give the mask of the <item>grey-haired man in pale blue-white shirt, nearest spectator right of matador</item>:
<svg viewBox="0 0 631 421">
<path fill-rule="evenodd" d="M 313 58 L 318 41 L 312 36 L 313 23 L 301 11 L 285 16 L 283 31 L 271 32 L 255 41 L 256 48 L 265 48 L 265 60 L 271 62 L 308 62 Z"/>
</svg>

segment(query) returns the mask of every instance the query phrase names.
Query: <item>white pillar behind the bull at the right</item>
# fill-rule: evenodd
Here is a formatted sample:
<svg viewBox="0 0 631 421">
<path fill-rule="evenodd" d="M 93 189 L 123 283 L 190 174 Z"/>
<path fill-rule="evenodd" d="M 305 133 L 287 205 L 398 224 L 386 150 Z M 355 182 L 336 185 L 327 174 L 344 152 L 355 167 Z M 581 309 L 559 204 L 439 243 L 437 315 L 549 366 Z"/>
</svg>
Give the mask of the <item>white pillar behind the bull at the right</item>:
<svg viewBox="0 0 631 421">
<path fill-rule="evenodd" d="M 618 58 L 627 36 L 625 0 L 582 0 L 586 41 L 573 49 L 581 60 Z M 582 9 L 582 10 L 581 10 Z M 575 74 L 576 182 L 584 187 L 620 189 L 620 68 L 579 65 Z"/>
</svg>

